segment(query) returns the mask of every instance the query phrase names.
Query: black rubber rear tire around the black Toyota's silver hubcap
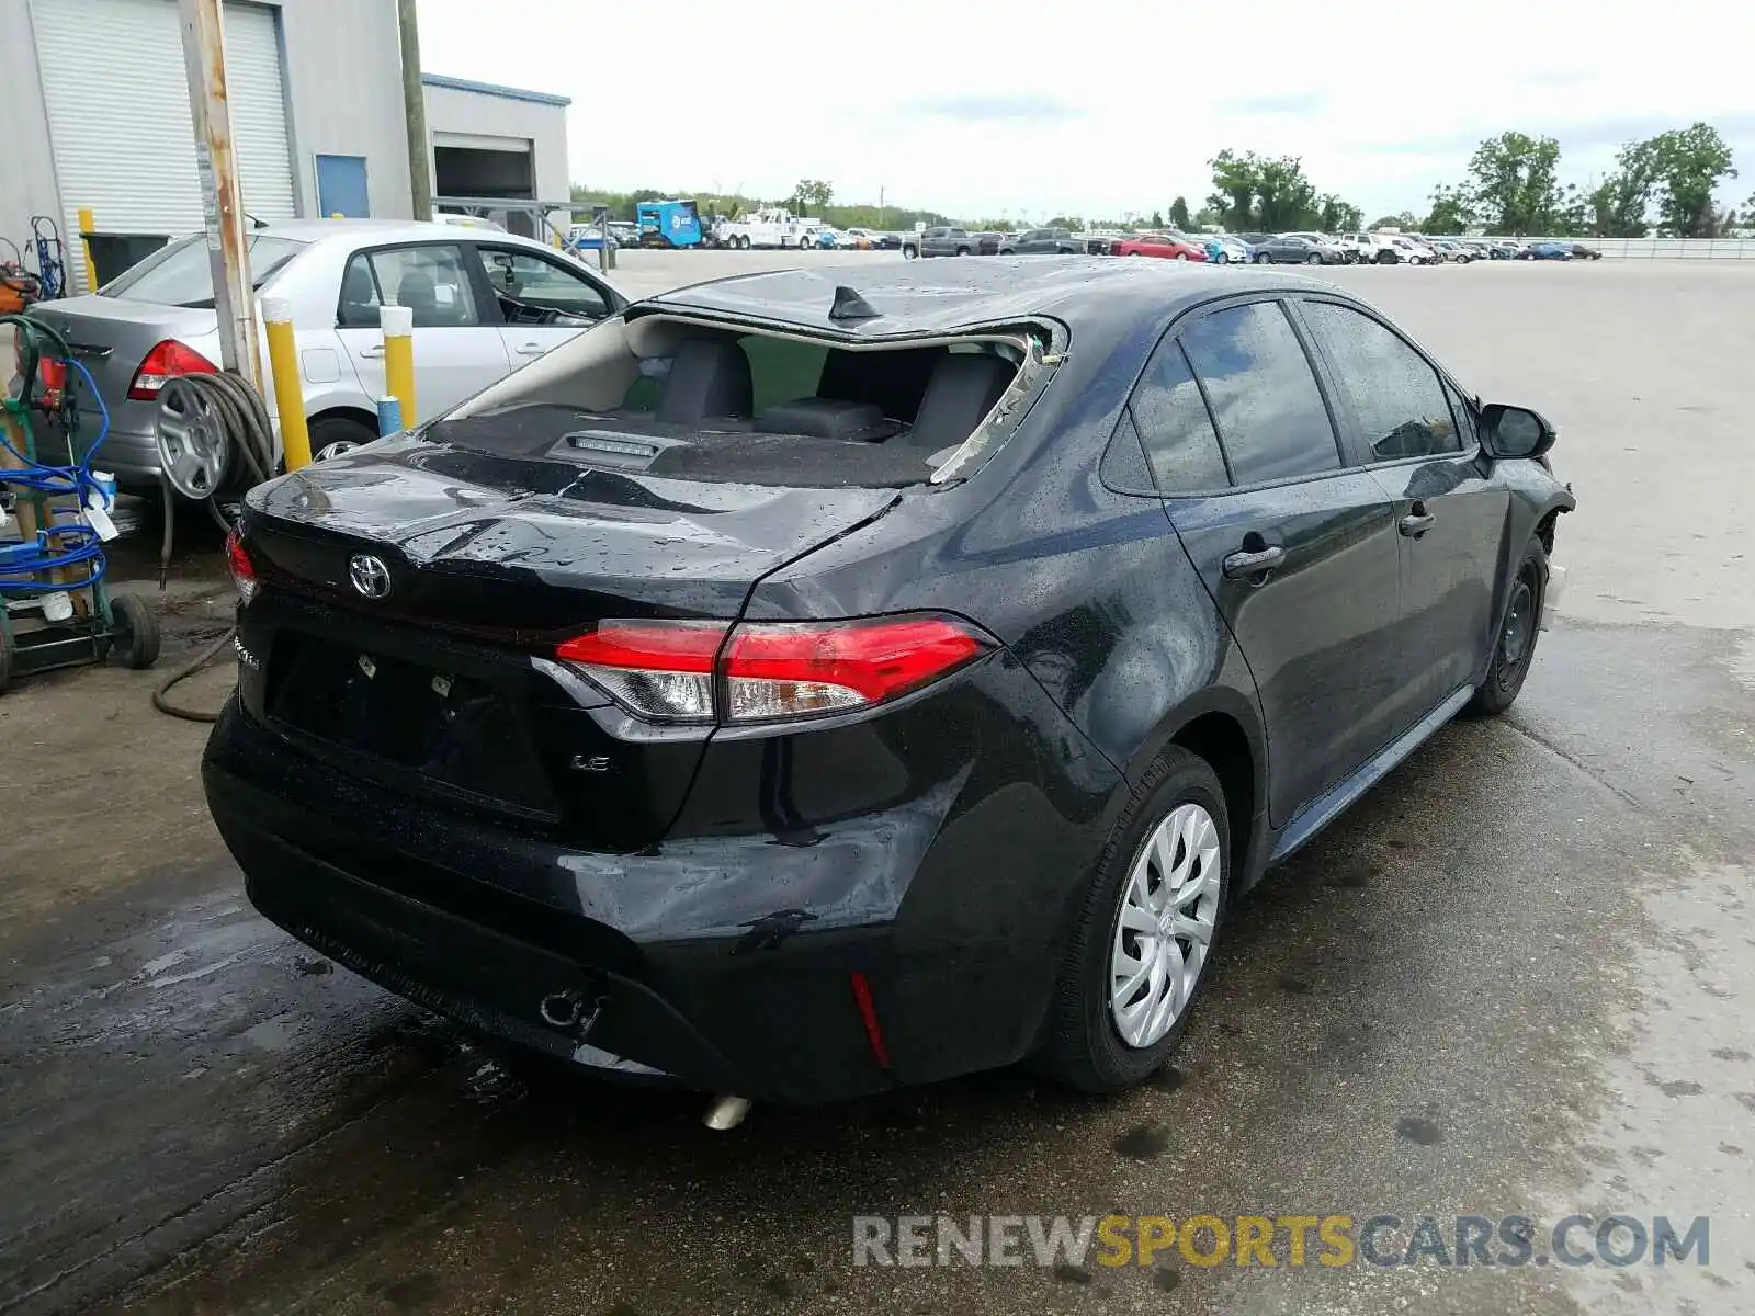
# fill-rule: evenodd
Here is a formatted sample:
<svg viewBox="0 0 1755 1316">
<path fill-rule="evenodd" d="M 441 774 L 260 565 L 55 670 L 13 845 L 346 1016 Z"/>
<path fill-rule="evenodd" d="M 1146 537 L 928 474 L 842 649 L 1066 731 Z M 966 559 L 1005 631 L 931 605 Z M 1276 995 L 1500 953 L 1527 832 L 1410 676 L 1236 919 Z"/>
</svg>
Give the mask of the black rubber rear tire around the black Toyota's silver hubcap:
<svg viewBox="0 0 1755 1316">
<path fill-rule="evenodd" d="M 1202 893 L 1186 907 L 1195 911 L 1190 923 L 1206 926 L 1206 944 L 1193 979 L 1185 986 L 1186 995 L 1179 1005 L 1171 1004 L 1169 1018 L 1150 1005 L 1153 1000 L 1150 977 L 1134 988 L 1135 1000 L 1146 1005 L 1144 1018 L 1151 1026 L 1139 1042 L 1125 1041 L 1116 1019 L 1118 1009 L 1111 1002 L 1114 962 L 1123 948 L 1130 948 L 1150 963 L 1155 944 L 1174 944 L 1186 976 L 1186 960 L 1193 941 L 1186 939 L 1190 948 L 1183 948 L 1185 939 L 1181 937 L 1172 935 L 1160 941 L 1153 933 L 1123 928 L 1121 914 L 1128 905 L 1141 911 L 1137 904 L 1141 895 L 1150 898 L 1150 895 L 1164 895 L 1169 888 L 1171 874 L 1165 874 L 1153 862 L 1157 851 L 1151 840 L 1158 828 L 1178 816 L 1199 821 L 1200 814 L 1211 830 L 1202 826 L 1197 833 L 1200 837 L 1195 848 L 1197 858 L 1190 860 L 1186 867 L 1178 863 L 1186 851 L 1181 837 L 1174 832 L 1169 837 L 1169 848 L 1171 870 L 1181 869 L 1186 877 L 1199 876 L 1200 879 Z M 1135 888 L 1135 869 L 1143 869 L 1141 881 L 1148 883 L 1144 891 Z M 1153 870 L 1160 876 L 1157 891 L 1150 888 Z M 1206 984 L 1204 969 L 1211 962 L 1214 933 L 1223 921 L 1228 883 L 1230 821 L 1225 812 L 1225 793 L 1204 760 L 1179 746 L 1171 746 L 1146 770 L 1097 862 L 1095 877 L 1067 944 L 1067 958 L 1060 970 L 1060 984 L 1048 1021 L 1049 1033 L 1035 1058 L 1037 1063 L 1062 1083 L 1093 1093 L 1125 1091 L 1160 1069 L 1183 1035 L 1188 1016 Z M 1165 981 L 1169 981 L 1167 976 Z M 1153 1028 L 1162 1030 L 1151 1035 Z"/>
</svg>

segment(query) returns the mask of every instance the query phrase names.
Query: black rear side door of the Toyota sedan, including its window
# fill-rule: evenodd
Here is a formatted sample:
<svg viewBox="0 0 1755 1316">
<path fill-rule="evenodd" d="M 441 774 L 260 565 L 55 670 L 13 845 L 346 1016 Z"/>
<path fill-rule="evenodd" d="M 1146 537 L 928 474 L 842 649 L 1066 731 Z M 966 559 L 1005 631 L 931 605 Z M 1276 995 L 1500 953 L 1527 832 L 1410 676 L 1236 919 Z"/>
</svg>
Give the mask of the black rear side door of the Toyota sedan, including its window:
<svg viewBox="0 0 1755 1316">
<path fill-rule="evenodd" d="M 1228 488 L 1183 497 L 1171 477 L 1165 505 L 1255 676 L 1269 812 L 1285 826 L 1393 733 L 1385 714 L 1399 684 L 1385 651 L 1400 611 L 1393 507 L 1369 472 L 1343 463 L 1279 300 L 1206 311 L 1178 339 L 1183 356 L 1160 351 L 1158 361 L 1165 419 L 1135 416 L 1148 453 L 1204 447 L 1206 426 L 1218 435 Z"/>
</svg>

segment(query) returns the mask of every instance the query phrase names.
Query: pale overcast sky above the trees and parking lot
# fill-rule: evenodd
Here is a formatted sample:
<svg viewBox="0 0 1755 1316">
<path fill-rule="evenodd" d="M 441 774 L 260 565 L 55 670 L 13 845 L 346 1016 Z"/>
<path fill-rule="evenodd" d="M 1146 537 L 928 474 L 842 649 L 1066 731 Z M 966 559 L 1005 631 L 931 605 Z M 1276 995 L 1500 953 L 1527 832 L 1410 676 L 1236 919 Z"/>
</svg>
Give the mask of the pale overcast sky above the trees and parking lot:
<svg viewBox="0 0 1755 1316">
<path fill-rule="evenodd" d="M 909 14 L 916 18 L 909 19 Z M 1625 16 L 1623 16 L 1625 14 Z M 419 0 L 428 72 L 572 97 L 576 182 L 1042 219 L 1192 209 L 1225 146 L 1425 211 L 1474 146 L 1551 133 L 1562 181 L 1706 119 L 1755 191 L 1755 7 L 1171 0 Z"/>
</svg>

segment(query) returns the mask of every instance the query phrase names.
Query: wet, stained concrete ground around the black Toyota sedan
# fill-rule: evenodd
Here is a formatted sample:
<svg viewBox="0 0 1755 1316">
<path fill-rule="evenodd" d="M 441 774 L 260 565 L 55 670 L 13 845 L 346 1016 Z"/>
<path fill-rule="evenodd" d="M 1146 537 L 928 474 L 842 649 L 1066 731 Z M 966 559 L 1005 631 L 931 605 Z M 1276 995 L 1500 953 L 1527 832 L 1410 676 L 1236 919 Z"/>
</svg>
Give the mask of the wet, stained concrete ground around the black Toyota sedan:
<svg viewBox="0 0 1755 1316">
<path fill-rule="evenodd" d="M 860 260 L 893 256 L 821 258 Z M 1336 277 L 1557 421 L 1564 614 L 1509 716 L 1439 733 L 1234 911 L 1174 1070 L 721 1135 L 697 1098 L 497 1063 L 249 911 L 204 728 L 147 674 L 47 677 L 0 698 L 0 1312 L 1755 1307 L 1755 265 Z M 167 662 L 225 625 L 211 549 Z M 1709 1216 L 1709 1263 L 851 1265 L 855 1214 L 1109 1211 Z"/>
</svg>

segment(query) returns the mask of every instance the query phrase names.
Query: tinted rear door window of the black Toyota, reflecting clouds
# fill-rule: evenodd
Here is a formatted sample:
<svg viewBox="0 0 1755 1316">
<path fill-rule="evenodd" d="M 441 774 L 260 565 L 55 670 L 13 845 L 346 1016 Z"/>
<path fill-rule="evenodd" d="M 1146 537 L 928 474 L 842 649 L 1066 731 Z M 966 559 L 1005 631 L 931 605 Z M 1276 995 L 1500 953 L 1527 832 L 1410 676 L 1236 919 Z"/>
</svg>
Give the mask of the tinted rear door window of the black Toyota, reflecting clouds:
<svg viewBox="0 0 1755 1316">
<path fill-rule="evenodd" d="M 1339 468 L 1329 409 L 1279 302 L 1214 311 L 1181 339 L 1239 484 Z"/>
</svg>

